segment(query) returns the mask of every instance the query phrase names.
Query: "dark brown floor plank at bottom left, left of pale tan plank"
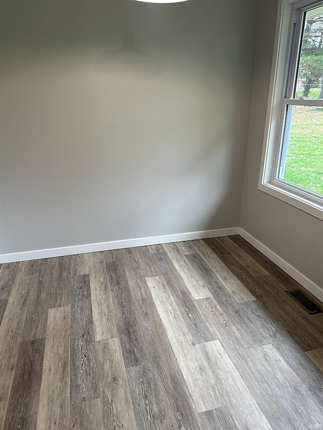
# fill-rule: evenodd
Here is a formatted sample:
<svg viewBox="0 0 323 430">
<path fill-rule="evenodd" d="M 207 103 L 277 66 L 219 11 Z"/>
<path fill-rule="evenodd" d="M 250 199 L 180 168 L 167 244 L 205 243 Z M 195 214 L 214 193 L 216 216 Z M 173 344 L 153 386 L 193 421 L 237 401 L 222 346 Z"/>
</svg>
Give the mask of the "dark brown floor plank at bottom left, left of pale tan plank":
<svg viewBox="0 0 323 430">
<path fill-rule="evenodd" d="M 4 429 L 36 428 L 45 339 L 21 342 Z"/>
</svg>

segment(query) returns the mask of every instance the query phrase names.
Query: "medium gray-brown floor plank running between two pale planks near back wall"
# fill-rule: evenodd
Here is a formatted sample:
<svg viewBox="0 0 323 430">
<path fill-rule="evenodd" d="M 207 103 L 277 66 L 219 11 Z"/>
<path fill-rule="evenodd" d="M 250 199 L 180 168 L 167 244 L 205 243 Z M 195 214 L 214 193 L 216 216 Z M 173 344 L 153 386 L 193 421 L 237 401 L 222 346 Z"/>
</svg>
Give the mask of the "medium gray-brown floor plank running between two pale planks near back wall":
<svg viewBox="0 0 323 430">
<path fill-rule="evenodd" d="M 208 324 L 208 319 L 203 317 L 192 294 L 188 291 L 183 279 L 168 255 L 165 252 L 156 253 L 152 258 L 158 266 L 161 276 L 163 276 L 182 313 L 194 343 L 216 340 L 217 336 L 214 335 L 212 327 Z"/>
</svg>

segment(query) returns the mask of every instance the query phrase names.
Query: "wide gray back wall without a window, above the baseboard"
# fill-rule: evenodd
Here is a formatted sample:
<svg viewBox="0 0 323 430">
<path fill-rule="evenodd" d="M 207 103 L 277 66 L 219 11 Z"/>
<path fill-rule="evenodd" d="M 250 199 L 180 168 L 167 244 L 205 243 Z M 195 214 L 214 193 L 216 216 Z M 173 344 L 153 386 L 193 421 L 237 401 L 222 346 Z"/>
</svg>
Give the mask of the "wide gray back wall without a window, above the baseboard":
<svg viewBox="0 0 323 430">
<path fill-rule="evenodd" d="M 1 3 L 1 253 L 239 225 L 257 0 Z"/>
</svg>

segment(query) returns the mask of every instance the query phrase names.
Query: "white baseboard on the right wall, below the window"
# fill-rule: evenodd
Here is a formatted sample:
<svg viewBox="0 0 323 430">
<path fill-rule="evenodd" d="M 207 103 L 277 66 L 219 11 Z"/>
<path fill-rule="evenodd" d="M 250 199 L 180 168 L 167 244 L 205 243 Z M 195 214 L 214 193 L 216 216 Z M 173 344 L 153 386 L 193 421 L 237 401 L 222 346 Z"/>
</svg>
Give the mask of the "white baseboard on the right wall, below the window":
<svg viewBox="0 0 323 430">
<path fill-rule="evenodd" d="M 251 236 L 247 231 L 243 228 L 239 228 L 239 234 L 247 242 L 251 243 L 258 251 L 260 251 L 263 255 L 268 257 L 268 259 L 272 260 L 277 266 L 284 270 L 284 272 L 288 273 L 295 281 L 299 282 L 304 288 L 306 288 L 310 293 L 312 293 L 315 297 L 317 297 L 320 301 L 323 302 L 323 289 L 308 279 L 305 275 L 299 272 L 295 267 L 287 263 L 287 261 L 283 260 L 279 255 L 275 254 L 272 250 L 267 248 L 263 243 L 261 243 L 258 239 Z"/>
</svg>

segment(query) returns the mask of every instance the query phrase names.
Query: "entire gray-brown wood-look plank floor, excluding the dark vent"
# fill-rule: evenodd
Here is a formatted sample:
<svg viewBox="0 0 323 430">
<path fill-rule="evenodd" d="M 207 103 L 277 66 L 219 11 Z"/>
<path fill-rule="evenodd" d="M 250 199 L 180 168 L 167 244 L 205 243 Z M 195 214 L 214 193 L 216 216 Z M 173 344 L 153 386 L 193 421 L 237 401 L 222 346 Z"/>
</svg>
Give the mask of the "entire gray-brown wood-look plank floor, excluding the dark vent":
<svg viewBox="0 0 323 430">
<path fill-rule="evenodd" d="M 240 236 L 0 269 L 0 430 L 323 427 L 323 314 Z"/>
</svg>

